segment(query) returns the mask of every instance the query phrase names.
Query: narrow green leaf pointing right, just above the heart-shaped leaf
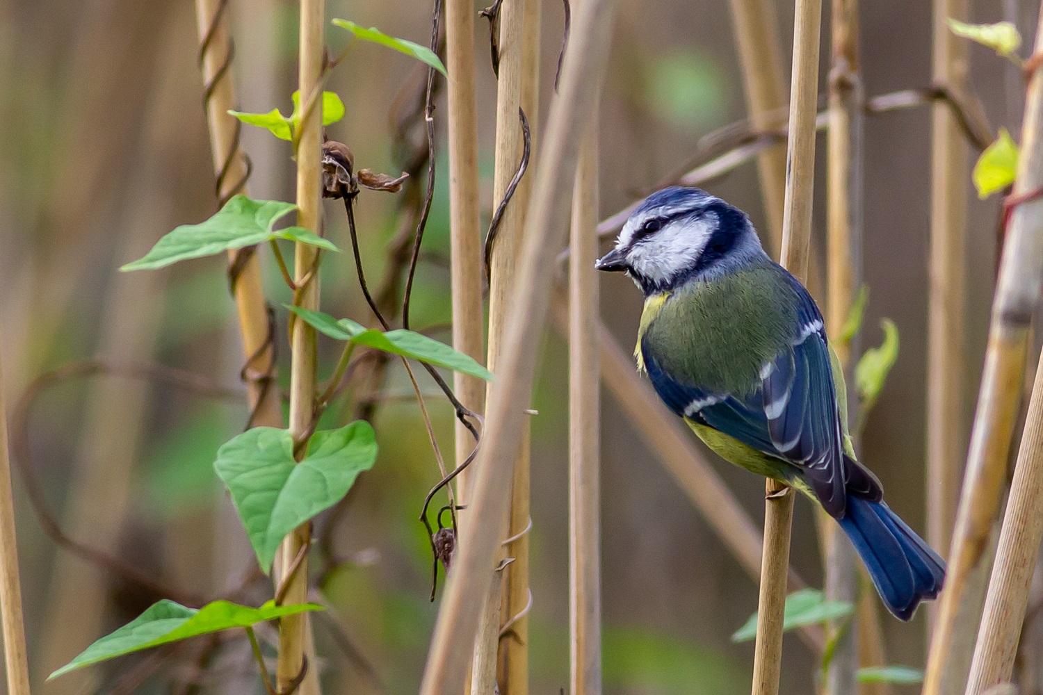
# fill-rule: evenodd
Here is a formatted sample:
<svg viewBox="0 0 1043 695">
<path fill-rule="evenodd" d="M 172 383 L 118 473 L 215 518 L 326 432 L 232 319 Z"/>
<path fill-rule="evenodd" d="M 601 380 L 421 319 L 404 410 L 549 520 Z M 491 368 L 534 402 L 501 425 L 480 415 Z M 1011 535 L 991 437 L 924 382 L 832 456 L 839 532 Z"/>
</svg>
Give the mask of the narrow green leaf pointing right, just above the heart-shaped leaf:
<svg viewBox="0 0 1043 695">
<path fill-rule="evenodd" d="M 436 367 L 444 367 L 462 374 L 477 376 L 490 380 L 492 373 L 475 362 L 468 355 L 457 352 L 448 345 L 439 343 L 412 330 L 389 330 L 386 333 L 370 328 L 366 329 L 350 319 L 336 320 L 329 314 L 312 312 L 300 306 L 286 305 L 288 309 L 299 316 L 309 325 L 321 333 L 339 341 L 351 341 L 356 345 L 364 345 L 374 350 L 383 350 L 404 357 L 412 357 Z"/>
</svg>

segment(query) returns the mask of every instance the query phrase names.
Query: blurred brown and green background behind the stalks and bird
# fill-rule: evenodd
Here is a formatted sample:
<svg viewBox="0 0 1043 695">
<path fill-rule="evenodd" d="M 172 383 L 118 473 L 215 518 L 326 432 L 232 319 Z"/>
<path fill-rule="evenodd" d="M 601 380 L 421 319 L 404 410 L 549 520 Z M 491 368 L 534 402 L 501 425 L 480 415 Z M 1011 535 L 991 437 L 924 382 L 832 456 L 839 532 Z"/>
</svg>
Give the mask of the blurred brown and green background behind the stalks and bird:
<svg viewBox="0 0 1043 695">
<path fill-rule="evenodd" d="M 1022 33 L 1030 38 L 1035 10 L 1019 11 L 1021 4 L 1032 5 L 1017 0 L 972 3 L 971 19 L 995 22 L 1014 13 Z M 476 11 L 480 7 L 476 3 Z M 331 18 L 428 42 L 429 3 L 330 0 L 328 8 Z M 240 107 L 288 111 L 295 80 L 295 7 L 257 0 L 234 2 L 233 10 Z M 779 3 L 787 56 L 792 11 L 790 3 Z M 0 0 L 0 356 L 9 408 L 40 373 L 96 354 L 160 362 L 222 384 L 238 383 L 240 348 L 222 259 L 153 273 L 117 272 L 176 224 L 198 222 L 214 210 L 193 13 L 187 1 Z M 867 95 L 929 84 L 929 19 L 927 2 L 863 3 Z M 828 22 L 828 6 L 824 20 Z M 544 111 L 562 21 L 561 5 L 547 0 Z M 329 29 L 334 49 L 345 43 L 341 33 Z M 829 57 L 828 32 L 824 35 L 823 85 Z M 478 24 L 477 41 L 484 198 L 491 207 L 495 83 L 484 21 Z M 1022 86 L 1016 69 L 981 47 L 971 47 L 970 54 L 971 86 L 990 121 L 1017 133 Z M 356 46 L 334 73 L 329 89 L 343 98 L 347 116 L 331 127 L 331 135 L 354 149 L 360 167 L 392 173 L 402 168 L 389 111 L 398 89 L 405 84 L 410 94 L 418 78 L 410 59 L 373 45 Z M 701 135 L 744 117 L 741 80 L 727 3 L 621 0 L 601 119 L 602 213 L 613 213 L 647 191 L 694 150 Z M 443 102 L 442 96 L 435 115 L 442 146 Z M 920 530 L 929 359 L 929 122 L 928 107 L 866 121 L 864 254 L 871 294 L 865 341 L 878 343 L 879 319 L 890 317 L 900 330 L 901 353 L 870 418 L 863 460 L 883 480 L 892 507 Z M 292 199 L 289 146 L 248 128 L 243 141 L 254 165 L 253 197 Z M 538 133 L 536 143 L 538 147 Z M 442 147 L 413 319 L 417 327 L 435 327 L 443 340 L 448 333 L 438 326 L 451 320 L 446 159 Z M 817 171 L 821 183 L 823 156 Z M 709 188 L 762 226 L 752 164 Z M 985 345 L 998 219 L 995 199 L 971 198 L 968 421 Z M 383 194 L 361 197 L 358 216 L 371 283 L 380 281 L 387 243 L 397 228 L 395 202 Z M 816 202 L 821 232 L 824 185 L 816 192 Z M 328 234 L 346 248 L 339 206 L 332 205 L 328 214 Z M 289 295 L 270 258 L 265 268 L 269 297 L 281 306 Z M 602 291 L 605 321 L 623 344 L 631 345 L 639 293 L 617 276 L 605 278 Z M 331 313 L 368 320 L 348 255 L 328 255 L 322 292 L 323 307 Z M 277 320 L 285 363 L 284 311 L 277 312 Z M 329 374 L 336 353 L 332 345 L 320 348 L 326 358 L 320 374 Z M 535 398 L 539 415 L 533 419 L 530 648 L 532 691 L 557 693 L 567 684 L 567 381 L 565 346 L 553 331 L 541 364 Z M 452 450 L 452 411 L 430 381 L 425 389 L 431 393 L 443 449 Z M 409 693 L 418 686 L 435 615 L 435 605 L 428 602 L 430 554 L 416 515 L 438 474 L 415 402 L 399 398 L 410 393 L 401 367 L 392 368 L 388 393 L 375 419 L 380 461 L 353 491 L 337 533 L 339 550 L 351 562 L 328 589 L 384 691 Z M 217 597 L 236 586 L 251 562 L 210 468 L 216 447 L 242 427 L 245 416 L 241 401 L 215 403 L 164 386 L 120 378 L 64 381 L 34 403 L 27 432 L 31 464 L 49 505 L 69 520 L 66 527 L 76 538 L 120 553 L 164 585 Z M 966 431 L 952 437 L 966 443 Z M 761 481 L 714 463 L 759 523 Z M 35 685 L 42 686 L 43 675 L 155 597 L 56 552 L 18 485 L 16 480 L 30 666 Z M 606 692 L 746 692 L 752 643 L 733 645 L 729 636 L 755 610 L 756 587 L 607 395 L 602 485 Z M 799 571 L 819 585 L 812 517 L 803 502 L 793 552 Z M 924 625 L 923 612 L 909 625 L 887 619 L 892 663 L 922 665 Z M 380 692 L 365 668 L 345 660 L 330 635 L 318 631 L 320 652 L 329 657 L 329 692 Z M 254 692 L 258 687 L 239 647 L 222 650 L 216 680 L 204 682 L 217 689 L 213 692 Z M 815 664 L 803 644 L 789 639 L 784 657 L 784 692 L 811 692 Z M 97 669 L 93 680 L 68 676 L 70 681 L 58 680 L 40 692 L 104 690 L 131 664 Z M 246 675 L 228 686 L 236 674 Z M 185 668 L 167 670 L 140 692 L 168 692 L 172 678 L 191 675 Z M 221 682 L 225 685 L 215 685 Z"/>
</svg>

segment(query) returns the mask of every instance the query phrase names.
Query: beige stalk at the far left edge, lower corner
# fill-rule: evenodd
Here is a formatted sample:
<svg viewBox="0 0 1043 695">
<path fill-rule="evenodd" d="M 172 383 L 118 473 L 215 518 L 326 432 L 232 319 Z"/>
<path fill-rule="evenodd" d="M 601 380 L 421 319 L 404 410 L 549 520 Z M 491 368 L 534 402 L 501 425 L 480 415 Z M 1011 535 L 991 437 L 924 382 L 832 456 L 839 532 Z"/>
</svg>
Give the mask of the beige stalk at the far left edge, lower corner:
<svg viewBox="0 0 1043 695">
<path fill-rule="evenodd" d="M 0 373 L 0 383 L 3 376 Z M 15 532 L 15 496 L 10 488 L 7 415 L 0 390 L 0 621 L 3 622 L 4 667 L 7 693 L 29 695 L 29 661 L 22 617 L 22 585 L 18 574 L 18 538 Z"/>
</svg>

